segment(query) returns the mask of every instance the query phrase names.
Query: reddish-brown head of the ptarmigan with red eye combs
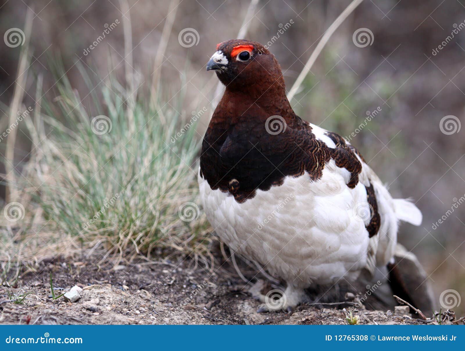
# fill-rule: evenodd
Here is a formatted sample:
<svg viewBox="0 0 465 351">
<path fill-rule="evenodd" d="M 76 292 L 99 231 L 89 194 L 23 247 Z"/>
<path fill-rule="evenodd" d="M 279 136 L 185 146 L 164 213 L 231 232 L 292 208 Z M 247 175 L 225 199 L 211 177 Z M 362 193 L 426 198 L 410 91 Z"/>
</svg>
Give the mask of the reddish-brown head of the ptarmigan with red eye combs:
<svg viewBox="0 0 465 351">
<path fill-rule="evenodd" d="M 252 40 L 231 39 L 216 45 L 216 52 L 206 65 L 229 90 L 265 88 L 278 83 L 284 86 L 281 67 L 265 46 Z"/>
</svg>

